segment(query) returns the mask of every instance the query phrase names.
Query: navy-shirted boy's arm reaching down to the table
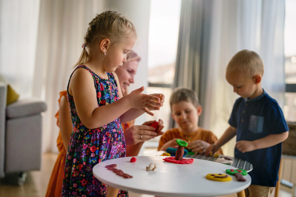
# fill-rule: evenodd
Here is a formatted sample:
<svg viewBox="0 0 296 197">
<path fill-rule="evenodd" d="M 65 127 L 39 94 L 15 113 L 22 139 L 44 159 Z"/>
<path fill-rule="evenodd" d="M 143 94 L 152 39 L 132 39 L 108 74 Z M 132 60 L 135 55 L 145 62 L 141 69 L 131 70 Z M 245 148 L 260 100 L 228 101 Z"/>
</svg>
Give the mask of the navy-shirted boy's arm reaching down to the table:
<svg viewBox="0 0 296 197">
<path fill-rule="evenodd" d="M 233 126 L 229 126 L 226 129 L 226 131 L 224 132 L 224 134 L 221 136 L 221 138 L 218 139 L 218 141 L 216 141 L 214 144 L 211 144 L 207 148 L 207 150 L 205 151 L 205 154 L 207 155 L 207 154 L 210 154 L 210 153 L 217 152 L 221 146 L 226 144 L 226 142 L 231 140 L 234 136 L 236 136 L 236 134 L 237 134 L 237 128 L 235 128 Z"/>
</svg>

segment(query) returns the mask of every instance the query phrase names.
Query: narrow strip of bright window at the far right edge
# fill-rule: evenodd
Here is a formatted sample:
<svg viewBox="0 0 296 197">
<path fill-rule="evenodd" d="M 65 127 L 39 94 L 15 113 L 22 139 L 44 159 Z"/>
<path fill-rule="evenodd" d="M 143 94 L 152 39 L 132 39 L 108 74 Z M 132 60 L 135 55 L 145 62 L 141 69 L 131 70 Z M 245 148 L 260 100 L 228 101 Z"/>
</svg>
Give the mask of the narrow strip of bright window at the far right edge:
<svg viewBox="0 0 296 197">
<path fill-rule="evenodd" d="M 283 111 L 286 121 L 296 122 L 296 1 L 286 0 L 285 3 L 284 53 L 286 92 Z"/>
</svg>

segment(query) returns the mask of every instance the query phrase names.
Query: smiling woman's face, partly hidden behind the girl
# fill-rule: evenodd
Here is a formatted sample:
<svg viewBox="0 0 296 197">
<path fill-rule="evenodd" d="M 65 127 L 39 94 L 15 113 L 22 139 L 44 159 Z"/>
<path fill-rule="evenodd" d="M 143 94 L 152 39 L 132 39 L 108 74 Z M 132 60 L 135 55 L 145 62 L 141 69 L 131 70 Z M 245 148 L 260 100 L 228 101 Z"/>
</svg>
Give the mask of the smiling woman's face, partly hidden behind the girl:
<svg viewBox="0 0 296 197">
<path fill-rule="evenodd" d="M 115 70 L 115 73 L 117 74 L 119 79 L 121 92 L 126 92 L 128 86 L 131 83 L 134 83 L 133 77 L 137 72 L 138 63 L 139 62 L 137 60 L 129 61 Z"/>
</svg>

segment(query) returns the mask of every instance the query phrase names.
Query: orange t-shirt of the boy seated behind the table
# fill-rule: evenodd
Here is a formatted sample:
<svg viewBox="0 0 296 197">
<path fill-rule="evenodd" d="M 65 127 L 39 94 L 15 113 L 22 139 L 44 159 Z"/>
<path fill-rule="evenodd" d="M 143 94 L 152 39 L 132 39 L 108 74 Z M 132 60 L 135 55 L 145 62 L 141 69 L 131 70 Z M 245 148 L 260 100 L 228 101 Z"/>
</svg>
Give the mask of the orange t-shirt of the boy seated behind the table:
<svg viewBox="0 0 296 197">
<path fill-rule="evenodd" d="M 180 128 L 172 128 L 165 132 L 160 138 L 158 150 L 161 149 L 163 144 L 166 142 L 174 139 L 184 139 L 186 141 L 195 141 L 195 140 L 203 140 L 206 141 L 209 144 L 214 144 L 215 141 L 217 141 L 217 137 L 212 133 L 211 131 L 207 131 L 201 127 L 198 127 L 197 131 L 184 134 Z M 222 149 L 220 148 L 217 151 L 218 154 L 223 154 Z"/>
</svg>

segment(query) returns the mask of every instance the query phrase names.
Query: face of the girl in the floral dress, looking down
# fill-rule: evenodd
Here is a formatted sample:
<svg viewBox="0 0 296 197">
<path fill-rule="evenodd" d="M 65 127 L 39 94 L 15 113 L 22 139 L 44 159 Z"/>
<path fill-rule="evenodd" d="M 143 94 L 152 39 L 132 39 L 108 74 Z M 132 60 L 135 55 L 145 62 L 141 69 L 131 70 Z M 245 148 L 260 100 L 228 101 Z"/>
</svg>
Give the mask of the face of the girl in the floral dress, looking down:
<svg viewBox="0 0 296 197">
<path fill-rule="evenodd" d="M 116 43 L 110 50 L 107 49 L 104 70 L 111 73 L 121 67 L 126 62 L 127 53 L 131 51 L 135 43 L 135 38 L 129 38 L 123 42 Z"/>
</svg>

